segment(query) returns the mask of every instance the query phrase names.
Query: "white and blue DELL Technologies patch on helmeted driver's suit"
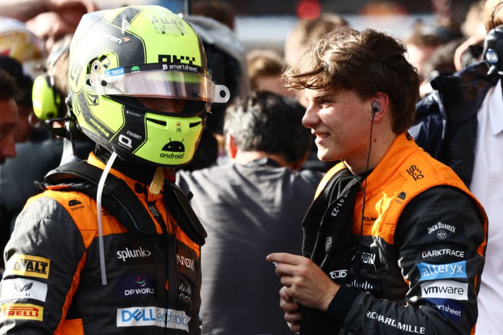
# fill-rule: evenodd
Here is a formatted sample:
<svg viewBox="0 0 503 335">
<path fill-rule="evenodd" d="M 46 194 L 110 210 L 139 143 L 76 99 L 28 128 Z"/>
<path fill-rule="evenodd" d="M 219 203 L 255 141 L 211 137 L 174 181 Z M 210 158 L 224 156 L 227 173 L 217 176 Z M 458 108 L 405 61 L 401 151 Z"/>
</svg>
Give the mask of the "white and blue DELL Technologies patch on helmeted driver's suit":
<svg viewBox="0 0 503 335">
<path fill-rule="evenodd" d="M 160 307 L 129 307 L 117 310 L 118 327 L 157 326 L 189 331 L 190 316 L 184 311 Z"/>
</svg>

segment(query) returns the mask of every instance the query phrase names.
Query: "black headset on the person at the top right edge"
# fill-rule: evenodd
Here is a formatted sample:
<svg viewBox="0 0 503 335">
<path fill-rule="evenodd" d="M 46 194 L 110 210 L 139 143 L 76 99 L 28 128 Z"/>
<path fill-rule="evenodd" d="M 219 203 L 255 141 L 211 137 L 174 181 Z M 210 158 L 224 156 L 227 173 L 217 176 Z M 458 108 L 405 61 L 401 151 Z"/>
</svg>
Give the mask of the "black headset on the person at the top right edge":
<svg viewBox="0 0 503 335">
<path fill-rule="evenodd" d="M 484 49 L 482 58 L 485 60 L 489 71 L 488 76 L 493 74 L 503 75 L 503 25 L 494 26 L 494 13 L 503 4 L 500 2 L 492 9 L 492 29 L 487 33 L 484 39 Z"/>
</svg>

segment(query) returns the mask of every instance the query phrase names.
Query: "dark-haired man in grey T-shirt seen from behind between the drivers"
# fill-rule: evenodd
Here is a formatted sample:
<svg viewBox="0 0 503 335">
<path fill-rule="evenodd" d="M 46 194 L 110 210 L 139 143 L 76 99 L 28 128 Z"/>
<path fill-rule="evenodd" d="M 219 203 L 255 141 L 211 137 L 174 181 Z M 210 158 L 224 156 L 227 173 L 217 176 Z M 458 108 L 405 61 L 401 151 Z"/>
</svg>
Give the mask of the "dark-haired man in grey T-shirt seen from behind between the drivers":
<svg viewBox="0 0 503 335">
<path fill-rule="evenodd" d="M 177 184 L 208 232 L 201 254 L 202 333 L 288 335 L 277 308 L 281 288 L 264 255 L 299 252 L 302 217 L 321 174 L 297 171 L 312 135 L 295 99 L 254 91 L 227 108 L 230 162 L 189 173 Z"/>
</svg>

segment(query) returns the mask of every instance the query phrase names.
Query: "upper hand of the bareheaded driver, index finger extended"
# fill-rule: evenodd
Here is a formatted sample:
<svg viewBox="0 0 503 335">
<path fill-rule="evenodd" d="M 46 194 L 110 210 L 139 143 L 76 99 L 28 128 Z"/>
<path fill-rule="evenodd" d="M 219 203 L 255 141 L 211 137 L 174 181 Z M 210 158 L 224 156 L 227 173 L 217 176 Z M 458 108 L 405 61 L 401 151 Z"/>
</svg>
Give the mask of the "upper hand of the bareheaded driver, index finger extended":
<svg viewBox="0 0 503 335">
<path fill-rule="evenodd" d="M 285 286 L 282 289 L 284 297 L 305 307 L 326 311 L 339 291 L 340 286 L 332 282 L 309 258 L 289 253 L 271 253 L 266 260 L 278 263 L 276 275 L 281 277 L 281 283 Z"/>
</svg>

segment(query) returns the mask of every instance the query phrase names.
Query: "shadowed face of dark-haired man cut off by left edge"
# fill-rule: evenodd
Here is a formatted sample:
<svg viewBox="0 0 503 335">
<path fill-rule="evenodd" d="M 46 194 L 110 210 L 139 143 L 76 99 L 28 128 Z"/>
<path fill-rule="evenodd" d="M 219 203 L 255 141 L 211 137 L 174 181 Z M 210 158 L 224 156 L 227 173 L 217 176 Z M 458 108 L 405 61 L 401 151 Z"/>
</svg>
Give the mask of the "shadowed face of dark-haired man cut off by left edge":
<svg viewBox="0 0 503 335">
<path fill-rule="evenodd" d="M 0 100 L 0 164 L 16 157 L 14 130 L 18 123 L 18 107 L 14 99 Z"/>
</svg>

